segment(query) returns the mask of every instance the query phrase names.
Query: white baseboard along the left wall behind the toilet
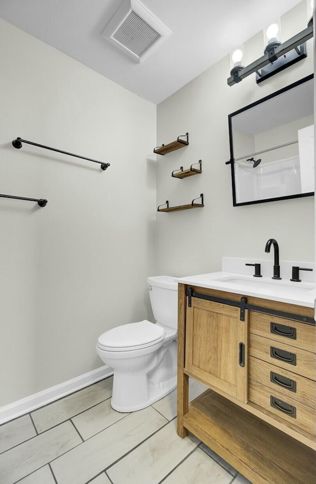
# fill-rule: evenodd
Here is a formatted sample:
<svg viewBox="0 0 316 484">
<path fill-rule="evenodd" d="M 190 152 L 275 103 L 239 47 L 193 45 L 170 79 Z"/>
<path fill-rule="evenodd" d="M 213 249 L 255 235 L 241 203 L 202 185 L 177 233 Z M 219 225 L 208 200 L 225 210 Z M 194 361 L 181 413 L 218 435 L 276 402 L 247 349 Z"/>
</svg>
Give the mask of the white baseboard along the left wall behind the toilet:
<svg viewBox="0 0 316 484">
<path fill-rule="evenodd" d="M 43 405 L 47 405 L 54 400 L 58 400 L 65 395 L 74 393 L 80 388 L 91 385 L 96 381 L 103 380 L 107 376 L 113 375 L 113 369 L 104 365 L 101 368 L 76 376 L 72 380 L 65 381 L 59 385 L 52 386 L 29 397 L 17 400 L 12 404 L 0 408 L 0 424 L 12 420 L 12 418 L 19 417 L 32 410 L 38 409 Z"/>
</svg>

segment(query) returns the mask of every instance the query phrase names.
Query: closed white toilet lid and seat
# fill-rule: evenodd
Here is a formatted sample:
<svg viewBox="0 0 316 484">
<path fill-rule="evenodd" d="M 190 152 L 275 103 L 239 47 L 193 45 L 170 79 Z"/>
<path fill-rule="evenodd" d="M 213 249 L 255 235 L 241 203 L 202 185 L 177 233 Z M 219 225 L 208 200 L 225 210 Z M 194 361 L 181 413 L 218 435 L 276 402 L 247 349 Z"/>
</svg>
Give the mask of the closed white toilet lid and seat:
<svg viewBox="0 0 316 484">
<path fill-rule="evenodd" d="M 164 338 L 164 329 L 147 321 L 130 323 L 106 331 L 98 339 L 105 349 L 140 349 L 158 343 Z"/>
</svg>

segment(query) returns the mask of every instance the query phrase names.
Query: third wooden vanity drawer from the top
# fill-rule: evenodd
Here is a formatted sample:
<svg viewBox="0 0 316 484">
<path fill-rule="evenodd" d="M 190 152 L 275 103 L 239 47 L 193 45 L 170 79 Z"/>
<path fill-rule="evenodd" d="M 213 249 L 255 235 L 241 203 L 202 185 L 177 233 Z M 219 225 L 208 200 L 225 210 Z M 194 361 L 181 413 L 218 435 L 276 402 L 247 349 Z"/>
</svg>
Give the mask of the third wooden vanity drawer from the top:
<svg viewBox="0 0 316 484">
<path fill-rule="evenodd" d="M 316 382 L 249 356 L 249 379 L 316 412 Z"/>
</svg>

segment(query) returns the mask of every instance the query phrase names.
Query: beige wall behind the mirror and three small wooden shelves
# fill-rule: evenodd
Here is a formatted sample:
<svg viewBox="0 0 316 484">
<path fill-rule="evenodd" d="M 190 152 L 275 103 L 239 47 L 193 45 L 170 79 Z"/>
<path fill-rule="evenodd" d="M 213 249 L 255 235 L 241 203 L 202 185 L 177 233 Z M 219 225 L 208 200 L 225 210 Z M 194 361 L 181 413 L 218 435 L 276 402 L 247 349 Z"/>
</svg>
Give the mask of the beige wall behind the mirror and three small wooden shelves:
<svg viewBox="0 0 316 484">
<path fill-rule="evenodd" d="M 286 40 L 306 28 L 305 3 L 281 19 Z M 249 39 L 245 65 L 262 55 L 262 33 Z M 282 260 L 315 260 L 314 197 L 233 207 L 228 114 L 261 99 L 314 71 L 313 39 L 308 57 L 257 85 L 252 74 L 230 87 L 229 56 L 192 80 L 158 106 L 157 144 L 189 132 L 190 145 L 157 155 L 157 205 L 190 203 L 204 194 L 205 207 L 157 214 L 159 273 L 184 276 L 220 270 L 222 256 L 271 259 L 270 237 L 279 243 Z M 172 170 L 202 159 L 201 175 L 171 178 Z M 290 277 L 289 274 L 283 277 Z"/>
</svg>

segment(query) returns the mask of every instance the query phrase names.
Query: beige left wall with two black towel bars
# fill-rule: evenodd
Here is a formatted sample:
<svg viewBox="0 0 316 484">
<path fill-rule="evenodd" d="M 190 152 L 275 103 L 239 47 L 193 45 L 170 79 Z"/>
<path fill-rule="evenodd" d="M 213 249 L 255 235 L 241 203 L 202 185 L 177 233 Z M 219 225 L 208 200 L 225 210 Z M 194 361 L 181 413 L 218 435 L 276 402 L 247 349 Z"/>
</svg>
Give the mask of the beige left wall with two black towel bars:
<svg viewBox="0 0 316 484">
<path fill-rule="evenodd" d="M 0 407 L 101 367 L 98 336 L 150 315 L 156 106 L 0 21 Z M 110 162 L 11 141 L 23 139 Z"/>
</svg>

